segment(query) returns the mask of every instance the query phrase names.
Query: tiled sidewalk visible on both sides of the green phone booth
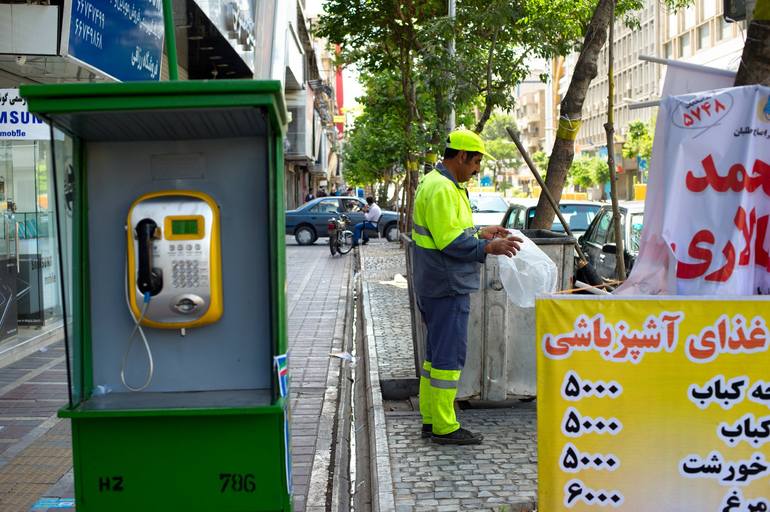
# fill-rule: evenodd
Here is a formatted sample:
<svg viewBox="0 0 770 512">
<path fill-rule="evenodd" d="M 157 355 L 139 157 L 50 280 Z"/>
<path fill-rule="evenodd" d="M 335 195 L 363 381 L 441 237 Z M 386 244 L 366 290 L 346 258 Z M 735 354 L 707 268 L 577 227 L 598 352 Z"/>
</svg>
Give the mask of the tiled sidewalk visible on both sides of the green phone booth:
<svg viewBox="0 0 770 512">
<path fill-rule="evenodd" d="M 336 386 L 351 257 L 332 258 L 325 240 L 308 247 L 287 237 L 287 309 L 292 407 L 294 510 L 325 507 Z M 54 508 L 74 498 L 61 340 L 23 359 L 0 361 L 0 512 Z M 311 482 L 311 476 L 314 481 Z M 315 484 L 315 485 L 313 485 Z M 51 508 L 48 508 L 48 506 Z"/>
</svg>

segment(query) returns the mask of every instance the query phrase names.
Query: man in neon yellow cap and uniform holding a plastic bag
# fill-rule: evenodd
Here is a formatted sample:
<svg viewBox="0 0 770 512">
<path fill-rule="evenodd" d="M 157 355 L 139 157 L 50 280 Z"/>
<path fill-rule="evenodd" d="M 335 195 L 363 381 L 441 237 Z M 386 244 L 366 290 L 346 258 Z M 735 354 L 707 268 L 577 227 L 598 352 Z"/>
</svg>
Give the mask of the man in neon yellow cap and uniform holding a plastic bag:
<svg viewBox="0 0 770 512">
<path fill-rule="evenodd" d="M 439 444 L 478 444 L 481 434 L 460 428 L 454 410 L 465 364 L 471 292 L 479 289 L 487 254 L 512 257 L 521 239 L 501 226 L 477 230 L 464 184 L 479 172 L 484 141 L 459 129 L 444 158 L 423 178 L 414 205 L 414 287 L 427 326 L 420 378 L 422 437 Z M 491 156 L 490 156 L 491 158 Z"/>
</svg>

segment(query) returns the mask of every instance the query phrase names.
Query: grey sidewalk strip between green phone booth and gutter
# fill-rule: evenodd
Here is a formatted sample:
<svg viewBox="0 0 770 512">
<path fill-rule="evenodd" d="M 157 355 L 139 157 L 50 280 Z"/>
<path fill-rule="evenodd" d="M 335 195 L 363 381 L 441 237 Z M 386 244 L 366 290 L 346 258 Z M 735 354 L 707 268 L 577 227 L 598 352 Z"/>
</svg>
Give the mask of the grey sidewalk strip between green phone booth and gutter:
<svg viewBox="0 0 770 512">
<path fill-rule="evenodd" d="M 286 247 L 292 479 L 297 512 L 324 510 L 330 497 L 329 464 L 341 360 L 330 359 L 329 354 L 342 349 L 353 258 L 332 257 L 325 241 L 307 247 L 287 242 Z"/>
</svg>

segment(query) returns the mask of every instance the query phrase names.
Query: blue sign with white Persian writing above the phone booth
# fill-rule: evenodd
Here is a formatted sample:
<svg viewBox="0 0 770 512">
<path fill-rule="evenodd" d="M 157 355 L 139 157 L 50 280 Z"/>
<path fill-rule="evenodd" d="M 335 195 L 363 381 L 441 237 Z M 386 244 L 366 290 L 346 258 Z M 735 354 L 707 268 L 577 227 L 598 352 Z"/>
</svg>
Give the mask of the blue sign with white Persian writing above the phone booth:
<svg viewBox="0 0 770 512">
<path fill-rule="evenodd" d="M 123 82 L 159 80 L 163 55 L 162 0 L 69 0 L 62 50 Z"/>
</svg>

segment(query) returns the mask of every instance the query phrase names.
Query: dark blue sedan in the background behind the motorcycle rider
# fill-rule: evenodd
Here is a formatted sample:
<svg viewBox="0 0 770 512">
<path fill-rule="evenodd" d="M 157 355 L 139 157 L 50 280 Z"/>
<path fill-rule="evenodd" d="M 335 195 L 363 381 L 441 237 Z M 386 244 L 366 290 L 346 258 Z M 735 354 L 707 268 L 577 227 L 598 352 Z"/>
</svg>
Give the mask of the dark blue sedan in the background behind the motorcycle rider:
<svg viewBox="0 0 770 512">
<path fill-rule="evenodd" d="M 329 236 L 329 219 L 340 213 L 350 217 L 351 226 L 363 222 L 365 206 L 366 201 L 359 197 L 318 197 L 296 210 L 286 212 L 286 234 L 294 235 L 300 245 L 310 245 L 319 237 Z M 389 242 L 398 240 L 398 213 L 382 210 L 378 231 L 380 236 L 387 238 Z M 377 231 L 373 229 L 367 229 L 366 233 L 369 236 L 377 236 Z"/>
</svg>

